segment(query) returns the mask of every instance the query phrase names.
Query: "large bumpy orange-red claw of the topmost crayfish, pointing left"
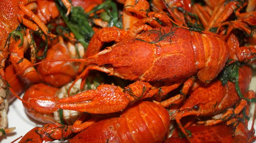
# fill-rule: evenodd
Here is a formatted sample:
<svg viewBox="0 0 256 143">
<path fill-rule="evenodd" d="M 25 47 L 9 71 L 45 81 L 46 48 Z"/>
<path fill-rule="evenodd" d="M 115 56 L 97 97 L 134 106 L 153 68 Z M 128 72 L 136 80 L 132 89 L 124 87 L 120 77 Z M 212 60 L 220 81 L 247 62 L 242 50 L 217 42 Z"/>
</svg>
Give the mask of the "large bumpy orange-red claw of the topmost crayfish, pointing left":
<svg viewBox="0 0 256 143">
<path fill-rule="evenodd" d="M 60 109 L 88 112 L 92 114 L 108 114 L 118 112 L 128 105 L 124 92 L 113 85 L 100 85 L 96 90 L 87 90 L 80 94 L 63 98 L 56 106 Z"/>
</svg>

